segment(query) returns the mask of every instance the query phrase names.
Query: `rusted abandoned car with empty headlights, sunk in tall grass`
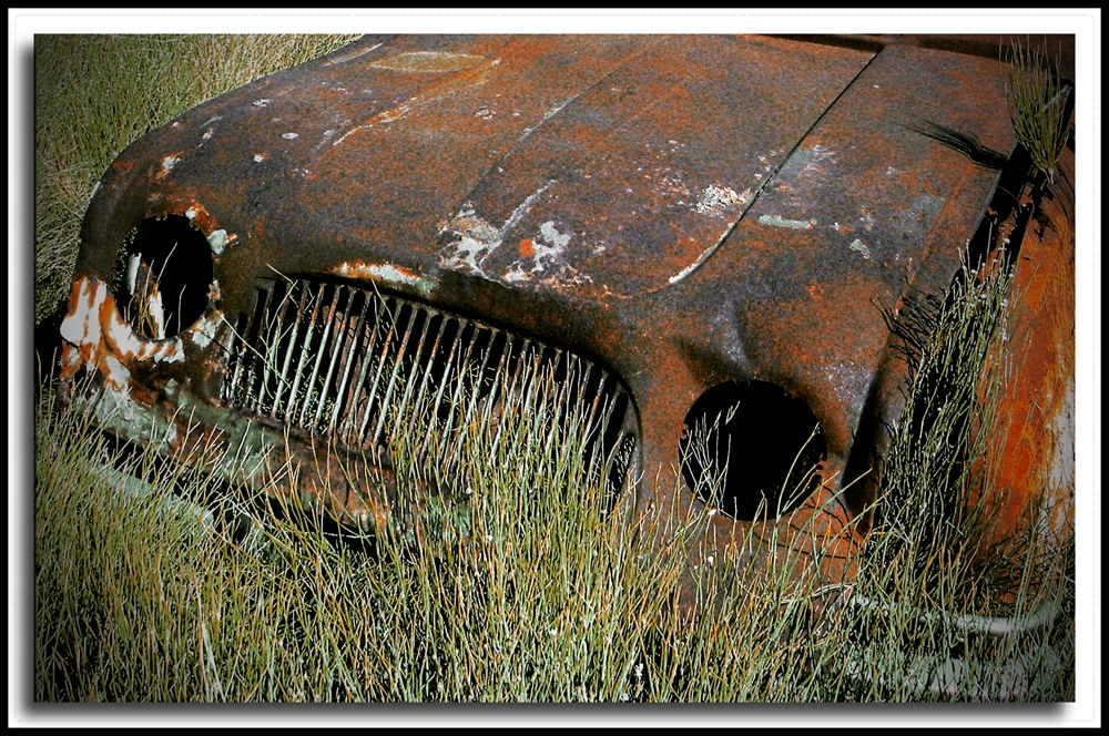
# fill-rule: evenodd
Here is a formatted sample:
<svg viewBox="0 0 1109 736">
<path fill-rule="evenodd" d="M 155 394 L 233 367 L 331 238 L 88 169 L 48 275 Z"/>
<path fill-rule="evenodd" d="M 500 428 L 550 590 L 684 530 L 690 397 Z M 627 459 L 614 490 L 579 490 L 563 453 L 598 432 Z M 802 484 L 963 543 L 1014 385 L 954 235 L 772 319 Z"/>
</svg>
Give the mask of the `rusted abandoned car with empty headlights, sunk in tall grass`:
<svg viewBox="0 0 1109 736">
<path fill-rule="evenodd" d="M 447 485 L 466 432 L 547 401 L 628 508 L 719 511 L 691 565 L 804 528 L 842 575 L 905 401 L 889 317 L 998 233 L 996 48 L 363 37 L 111 164 L 63 377 L 105 429 L 364 529 L 396 453 Z"/>
</svg>

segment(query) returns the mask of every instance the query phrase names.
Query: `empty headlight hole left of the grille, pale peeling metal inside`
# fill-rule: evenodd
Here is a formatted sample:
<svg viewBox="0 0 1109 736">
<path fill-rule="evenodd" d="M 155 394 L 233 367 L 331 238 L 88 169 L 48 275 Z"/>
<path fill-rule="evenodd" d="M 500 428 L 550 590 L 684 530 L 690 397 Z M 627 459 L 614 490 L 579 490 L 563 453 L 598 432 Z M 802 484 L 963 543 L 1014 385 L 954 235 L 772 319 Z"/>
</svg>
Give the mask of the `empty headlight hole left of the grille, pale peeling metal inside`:
<svg viewBox="0 0 1109 736">
<path fill-rule="evenodd" d="M 147 217 L 120 248 L 120 315 L 145 339 L 180 335 L 207 308 L 212 269 L 212 247 L 187 217 Z"/>
</svg>

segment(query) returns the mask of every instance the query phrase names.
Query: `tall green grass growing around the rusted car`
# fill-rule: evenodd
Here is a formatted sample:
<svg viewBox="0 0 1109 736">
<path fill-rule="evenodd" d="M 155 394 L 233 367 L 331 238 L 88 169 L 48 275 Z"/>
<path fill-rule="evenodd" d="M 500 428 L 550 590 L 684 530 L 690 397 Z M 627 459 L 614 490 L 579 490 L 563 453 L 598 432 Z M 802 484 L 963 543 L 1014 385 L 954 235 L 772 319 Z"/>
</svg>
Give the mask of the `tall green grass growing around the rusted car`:
<svg viewBox="0 0 1109 736">
<path fill-rule="evenodd" d="M 84 78 L 115 72 L 82 57 L 122 53 L 101 39 L 41 43 L 37 59 L 70 54 Z M 212 40 L 123 45 L 161 59 L 185 43 L 212 55 Z M 169 89 L 180 67 L 162 69 L 130 85 Z M 180 112 L 143 99 L 121 139 L 94 133 L 104 123 L 87 111 L 70 159 L 51 141 L 40 171 L 87 166 L 91 178 L 68 176 L 70 192 L 43 177 L 40 201 L 79 216 L 124 139 Z M 164 112 L 143 119 L 150 110 Z M 72 247 L 60 225 L 39 225 L 40 258 L 45 243 Z M 990 478 L 987 399 L 1005 377 L 1008 285 L 1005 269 L 965 272 L 946 304 L 918 315 L 928 335 L 855 579 L 814 591 L 788 582 L 788 554 L 731 577 L 724 559 L 706 580 L 732 583 L 703 591 L 719 603 L 691 619 L 675 605 L 682 555 L 649 544 L 653 530 L 620 508 L 606 512 L 581 462 L 580 418 L 562 425 L 549 405 L 505 411 L 495 447 L 488 433 L 466 437 L 457 499 L 429 499 L 399 447 L 399 493 L 426 512 L 368 539 L 113 449 L 80 412 L 54 411 L 48 389 L 35 421 L 34 699 L 1072 701 L 1072 546 L 1045 546 L 1035 515 L 1021 535 L 986 545 L 989 510 L 970 501 Z M 57 297 L 44 280 L 37 303 L 40 292 L 43 304 Z M 974 616 L 1019 625 L 1051 606 L 1062 613 L 1046 626 L 976 631 Z"/>
</svg>

